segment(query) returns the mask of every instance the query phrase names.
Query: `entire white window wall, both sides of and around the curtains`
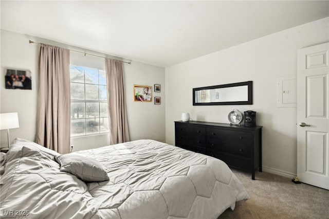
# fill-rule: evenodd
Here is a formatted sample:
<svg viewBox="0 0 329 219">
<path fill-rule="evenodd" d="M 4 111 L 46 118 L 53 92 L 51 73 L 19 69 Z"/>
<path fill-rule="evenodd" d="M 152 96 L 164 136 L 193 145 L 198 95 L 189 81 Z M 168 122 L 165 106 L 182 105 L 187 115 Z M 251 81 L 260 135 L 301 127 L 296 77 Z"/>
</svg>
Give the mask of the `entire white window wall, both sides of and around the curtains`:
<svg viewBox="0 0 329 219">
<path fill-rule="evenodd" d="M 29 40 L 115 58 L 75 46 L 1 30 L 1 72 L 3 75 L 0 77 L 0 112 L 18 112 L 20 122 L 19 129 L 10 130 L 10 140 L 13 140 L 15 137 L 35 140 L 39 48 L 37 45 L 29 44 Z M 102 65 L 104 59 L 102 58 L 88 55 L 84 57 L 83 54 L 70 53 L 71 60 L 75 63 L 92 67 L 104 67 Z M 5 89 L 4 72 L 7 68 L 30 70 L 32 72 L 32 90 Z M 150 138 L 165 141 L 165 69 L 132 61 L 131 65 L 123 63 L 123 71 L 131 140 Z M 133 101 L 133 84 L 149 86 L 161 84 L 161 93 L 154 93 L 154 95 L 163 97 L 161 105 L 154 105 L 153 102 L 135 103 Z M 109 144 L 109 139 L 108 134 L 78 137 L 72 138 L 71 144 L 74 144 L 74 151 L 79 151 L 107 145 Z M 1 131 L 1 145 L 7 145 L 7 131 L 4 130 Z"/>
</svg>

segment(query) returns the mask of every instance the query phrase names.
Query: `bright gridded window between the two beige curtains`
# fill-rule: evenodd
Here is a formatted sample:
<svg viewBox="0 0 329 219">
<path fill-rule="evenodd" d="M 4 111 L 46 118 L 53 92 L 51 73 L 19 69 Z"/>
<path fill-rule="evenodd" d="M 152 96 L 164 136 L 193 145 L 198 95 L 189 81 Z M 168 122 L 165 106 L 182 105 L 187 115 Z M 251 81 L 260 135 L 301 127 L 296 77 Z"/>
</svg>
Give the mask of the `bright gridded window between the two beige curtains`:
<svg viewBox="0 0 329 219">
<path fill-rule="evenodd" d="M 71 137 L 108 133 L 104 70 L 70 65 Z"/>
</svg>

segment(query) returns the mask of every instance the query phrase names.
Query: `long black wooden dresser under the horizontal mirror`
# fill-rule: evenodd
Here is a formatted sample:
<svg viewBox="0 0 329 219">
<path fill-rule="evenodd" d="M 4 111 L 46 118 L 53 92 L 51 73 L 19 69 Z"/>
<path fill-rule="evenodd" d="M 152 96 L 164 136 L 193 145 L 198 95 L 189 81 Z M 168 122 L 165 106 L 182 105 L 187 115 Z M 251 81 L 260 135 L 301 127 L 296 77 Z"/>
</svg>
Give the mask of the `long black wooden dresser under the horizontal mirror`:
<svg viewBox="0 0 329 219">
<path fill-rule="evenodd" d="M 262 172 L 262 126 L 175 121 L 175 145 L 223 160 L 229 167 Z"/>
</svg>

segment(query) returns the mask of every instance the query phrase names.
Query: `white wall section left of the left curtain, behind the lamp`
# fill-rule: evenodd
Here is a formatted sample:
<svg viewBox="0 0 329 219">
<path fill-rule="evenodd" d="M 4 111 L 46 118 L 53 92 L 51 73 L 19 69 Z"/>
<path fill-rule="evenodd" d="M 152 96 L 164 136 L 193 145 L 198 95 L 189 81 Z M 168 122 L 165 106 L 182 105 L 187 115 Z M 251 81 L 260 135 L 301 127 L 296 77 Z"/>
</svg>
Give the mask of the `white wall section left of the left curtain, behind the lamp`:
<svg viewBox="0 0 329 219">
<path fill-rule="evenodd" d="M 34 140 L 36 131 L 36 94 L 38 82 L 38 47 L 30 45 L 29 38 L 1 30 L 1 113 L 18 112 L 20 127 L 10 130 L 10 140 L 21 137 Z M 25 69 L 32 73 L 32 90 L 5 89 L 6 69 Z M 1 147 L 8 145 L 7 130 L 1 131 Z"/>
</svg>

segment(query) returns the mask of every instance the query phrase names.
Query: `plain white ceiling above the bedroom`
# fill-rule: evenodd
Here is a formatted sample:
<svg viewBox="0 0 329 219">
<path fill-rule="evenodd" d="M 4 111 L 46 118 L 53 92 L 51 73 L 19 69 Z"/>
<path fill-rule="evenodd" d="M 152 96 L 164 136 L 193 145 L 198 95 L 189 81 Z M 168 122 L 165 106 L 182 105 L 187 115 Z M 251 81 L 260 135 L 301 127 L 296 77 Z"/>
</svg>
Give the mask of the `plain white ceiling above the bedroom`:
<svg viewBox="0 0 329 219">
<path fill-rule="evenodd" d="M 1 29 L 161 67 L 327 16 L 328 1 L 1 1 Z"/>
</svg>

